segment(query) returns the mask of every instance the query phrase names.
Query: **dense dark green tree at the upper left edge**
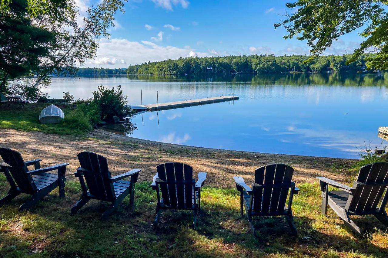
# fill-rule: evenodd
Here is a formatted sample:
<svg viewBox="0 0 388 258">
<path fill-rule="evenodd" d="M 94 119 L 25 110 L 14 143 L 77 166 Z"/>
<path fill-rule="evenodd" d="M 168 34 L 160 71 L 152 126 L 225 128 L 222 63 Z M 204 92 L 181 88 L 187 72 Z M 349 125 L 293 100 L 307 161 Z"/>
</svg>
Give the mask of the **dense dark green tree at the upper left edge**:
<svg viewBox="0 0 388 258">
<path fill-rule="evenodd" d="M 55 47 L 55 34 L 33 24 L 27 2 L 14 0 L 0 15 L 0 90 L 7 82 L 38 71 L 41 60 Z"/>
</svg>

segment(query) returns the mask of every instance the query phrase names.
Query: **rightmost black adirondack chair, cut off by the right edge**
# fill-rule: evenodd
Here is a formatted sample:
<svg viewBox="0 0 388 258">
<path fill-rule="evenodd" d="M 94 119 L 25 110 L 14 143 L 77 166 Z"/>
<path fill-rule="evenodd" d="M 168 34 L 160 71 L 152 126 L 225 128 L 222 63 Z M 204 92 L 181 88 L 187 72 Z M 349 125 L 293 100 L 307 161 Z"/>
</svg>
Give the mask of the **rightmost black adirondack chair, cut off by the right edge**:
<svg viewBox="0 0 388 258">
<path fill-rule="evenodd" d="M 322 191 L 322 214 L 326 216 L 329 205 L 356 234 L 362 234 L 362 230 L 350 219 L 351 215 L 374 215 L 388 227 L 385 212 L 388 200 L 388 162 L 376 162 L 361 167 L 353 187 L 326 177 L 317 179 Z M 329 185 L 341 190 L 329 191 Z"/>
</svg>

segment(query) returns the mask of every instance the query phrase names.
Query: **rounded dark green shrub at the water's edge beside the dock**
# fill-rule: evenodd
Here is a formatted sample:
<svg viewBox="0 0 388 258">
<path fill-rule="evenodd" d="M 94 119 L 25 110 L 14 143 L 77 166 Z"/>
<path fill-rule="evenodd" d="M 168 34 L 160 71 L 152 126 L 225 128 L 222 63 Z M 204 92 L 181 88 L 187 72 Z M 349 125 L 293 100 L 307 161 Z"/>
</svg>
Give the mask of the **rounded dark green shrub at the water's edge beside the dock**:
<svg viewBox="0 0 388 258">
<path fill-rule="evenodd" d="M 128 96 L 123 95 L 120 85 L 117 86 L 117 89 L 108 89 L 101 85 L 97 91 L 93 91 L 92 93 L 92 103 L 99 106 L 101 120 L 112 121 L 114 115 L 122 119 L 125 116 L 133 114 L 131 108 L 126 106 L 126 98 Z"/>
</svg>

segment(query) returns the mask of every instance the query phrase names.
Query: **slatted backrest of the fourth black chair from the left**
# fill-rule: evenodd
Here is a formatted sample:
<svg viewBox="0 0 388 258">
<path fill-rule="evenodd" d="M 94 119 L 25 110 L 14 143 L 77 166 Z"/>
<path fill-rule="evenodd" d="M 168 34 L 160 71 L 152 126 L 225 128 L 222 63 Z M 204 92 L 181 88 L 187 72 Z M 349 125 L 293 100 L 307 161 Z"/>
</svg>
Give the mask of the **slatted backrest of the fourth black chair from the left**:
<svg viewBox="0 0 388 258">
<path fill-rule="evenodd" d="M 255 170 L 252 210 L 262 214 L 282 214 L 294 169 L 284 164 L 270 164 Z"/>
</svg>

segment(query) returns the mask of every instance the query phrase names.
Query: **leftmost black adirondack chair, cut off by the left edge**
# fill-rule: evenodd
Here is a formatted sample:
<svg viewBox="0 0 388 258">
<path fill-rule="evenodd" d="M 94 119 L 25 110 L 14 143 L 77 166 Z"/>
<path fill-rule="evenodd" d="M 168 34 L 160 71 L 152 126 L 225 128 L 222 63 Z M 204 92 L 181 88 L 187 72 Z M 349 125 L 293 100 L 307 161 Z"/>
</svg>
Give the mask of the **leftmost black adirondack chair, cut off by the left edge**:
<svg viewBox="0 0 388 258">
<path fill-rule="evenodd" d="M 9 202 L 20 193 L 32 194 L 32 198 L 19 207 L 19 210 L 30 210 L 44 196 L 56 187 L 59 187 L 59 198 L 65 196 L 65 173 L 68 163 L 62 163 L 50 167 L 40 168 L 40 159 L 24 162 L 19 152 L 9 148 L 0 148 L 3 163 L 1 171 L 7 177 L 11 186 L 8 194 L 0 200 L 0 206 Z M 34 165 L 34 170 L 28 167 Z M 57 170 L 57 174 L 47 173 Z"/>
</svg>

